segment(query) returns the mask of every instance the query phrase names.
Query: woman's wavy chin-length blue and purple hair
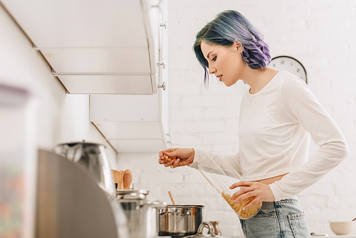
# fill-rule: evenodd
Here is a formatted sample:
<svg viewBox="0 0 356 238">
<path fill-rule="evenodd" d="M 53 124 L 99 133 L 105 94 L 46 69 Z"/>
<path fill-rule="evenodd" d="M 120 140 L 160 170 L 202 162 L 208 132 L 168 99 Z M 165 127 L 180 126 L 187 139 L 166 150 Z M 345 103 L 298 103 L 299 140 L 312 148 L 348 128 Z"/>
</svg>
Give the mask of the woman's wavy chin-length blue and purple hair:
<svg viewBox="0 0 356 238">
<path fill-rule="evenodd" d="M 209 63 L 201 52 L 201 41 L 220 46 L 232 46 L 235 41 L 241 43 L 244 49 L 241 56 L 245 63 L 253 69 L 265 68 L 271 63 L 268 44 L 263 41 L 261 31 L 258 31 L 238 11 L 222 11 L 197 33 L 197 39 L 193 46 L 195 55 L 204 68 L 206 86 L 208 85 Z"/>
</svg>

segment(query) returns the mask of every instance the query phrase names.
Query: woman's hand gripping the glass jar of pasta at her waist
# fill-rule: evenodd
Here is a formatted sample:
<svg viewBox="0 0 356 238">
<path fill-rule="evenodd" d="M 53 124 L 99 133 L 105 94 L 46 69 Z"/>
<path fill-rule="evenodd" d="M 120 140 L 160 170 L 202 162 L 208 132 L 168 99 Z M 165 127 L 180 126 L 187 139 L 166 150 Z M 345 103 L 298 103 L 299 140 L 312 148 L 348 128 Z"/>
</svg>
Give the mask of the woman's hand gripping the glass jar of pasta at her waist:
<svg viewBox="0 0 356 238">
<path fill-rule="evenodd" d="M 236 187 L 241 187 L 239 191 L 235 192 L 231 196 L 231 200 L 235 200 L 236 197 L 239 197 L 236 202 L 241 202 L 248 197 L 255 197 L 248 205 L 243 209 L 248 209 L 258 202 L 273 202 L 274 195 L 268 185 L 265 185 L 261 182 L 236 182 L 234 185 L 231 185 L 229 188 L 233 190 Z"/>
</svg>

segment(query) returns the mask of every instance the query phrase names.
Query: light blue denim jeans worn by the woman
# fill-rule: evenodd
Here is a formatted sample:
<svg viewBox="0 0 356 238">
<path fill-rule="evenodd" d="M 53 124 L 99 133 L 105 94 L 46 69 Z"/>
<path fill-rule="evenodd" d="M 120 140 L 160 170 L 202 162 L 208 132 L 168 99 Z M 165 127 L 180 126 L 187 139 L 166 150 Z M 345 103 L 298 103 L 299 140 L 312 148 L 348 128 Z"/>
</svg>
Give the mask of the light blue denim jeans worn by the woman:
<svg viewBox="0 0 356 238">
<path fill-rule="evenodd" d="M 310 237 L 305 214 L 297 197 L 277 202 L 263 202 L 261 210 L 250 219 L 240 219 L 247 238 Z"/>
</svg>

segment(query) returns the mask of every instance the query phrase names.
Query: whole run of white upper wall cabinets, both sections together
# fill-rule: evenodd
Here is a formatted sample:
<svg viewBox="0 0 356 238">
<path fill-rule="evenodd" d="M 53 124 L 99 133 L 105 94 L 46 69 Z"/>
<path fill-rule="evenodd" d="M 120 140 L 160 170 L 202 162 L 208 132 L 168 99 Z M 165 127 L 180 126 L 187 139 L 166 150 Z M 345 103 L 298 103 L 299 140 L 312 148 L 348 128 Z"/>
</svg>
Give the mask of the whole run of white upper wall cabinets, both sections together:
<svg viewBox="0 0 356 238">
<path fill-rule="evenodd" d="M 0 1 L 117 152 L 167 147 L 167 0 Z"/>
</svg>

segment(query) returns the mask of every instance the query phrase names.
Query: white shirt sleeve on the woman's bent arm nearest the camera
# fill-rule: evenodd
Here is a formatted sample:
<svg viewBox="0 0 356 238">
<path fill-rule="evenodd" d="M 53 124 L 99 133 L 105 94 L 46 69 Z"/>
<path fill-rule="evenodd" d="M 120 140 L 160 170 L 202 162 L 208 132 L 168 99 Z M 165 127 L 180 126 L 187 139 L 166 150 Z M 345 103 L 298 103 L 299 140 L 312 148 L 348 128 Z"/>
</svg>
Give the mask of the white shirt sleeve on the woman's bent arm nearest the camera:
<svg viewBox="0 0 356 238">
<path fill-rule="evenodd" d="M 349 155 L 345 137 L 303 80 L 286 78 L 281 95 L 288 116 L 310 133 L 319 148 L 302 167 L 269 185 L 276 201 L 293 197 L 315 184 Z"/>
</svg>

